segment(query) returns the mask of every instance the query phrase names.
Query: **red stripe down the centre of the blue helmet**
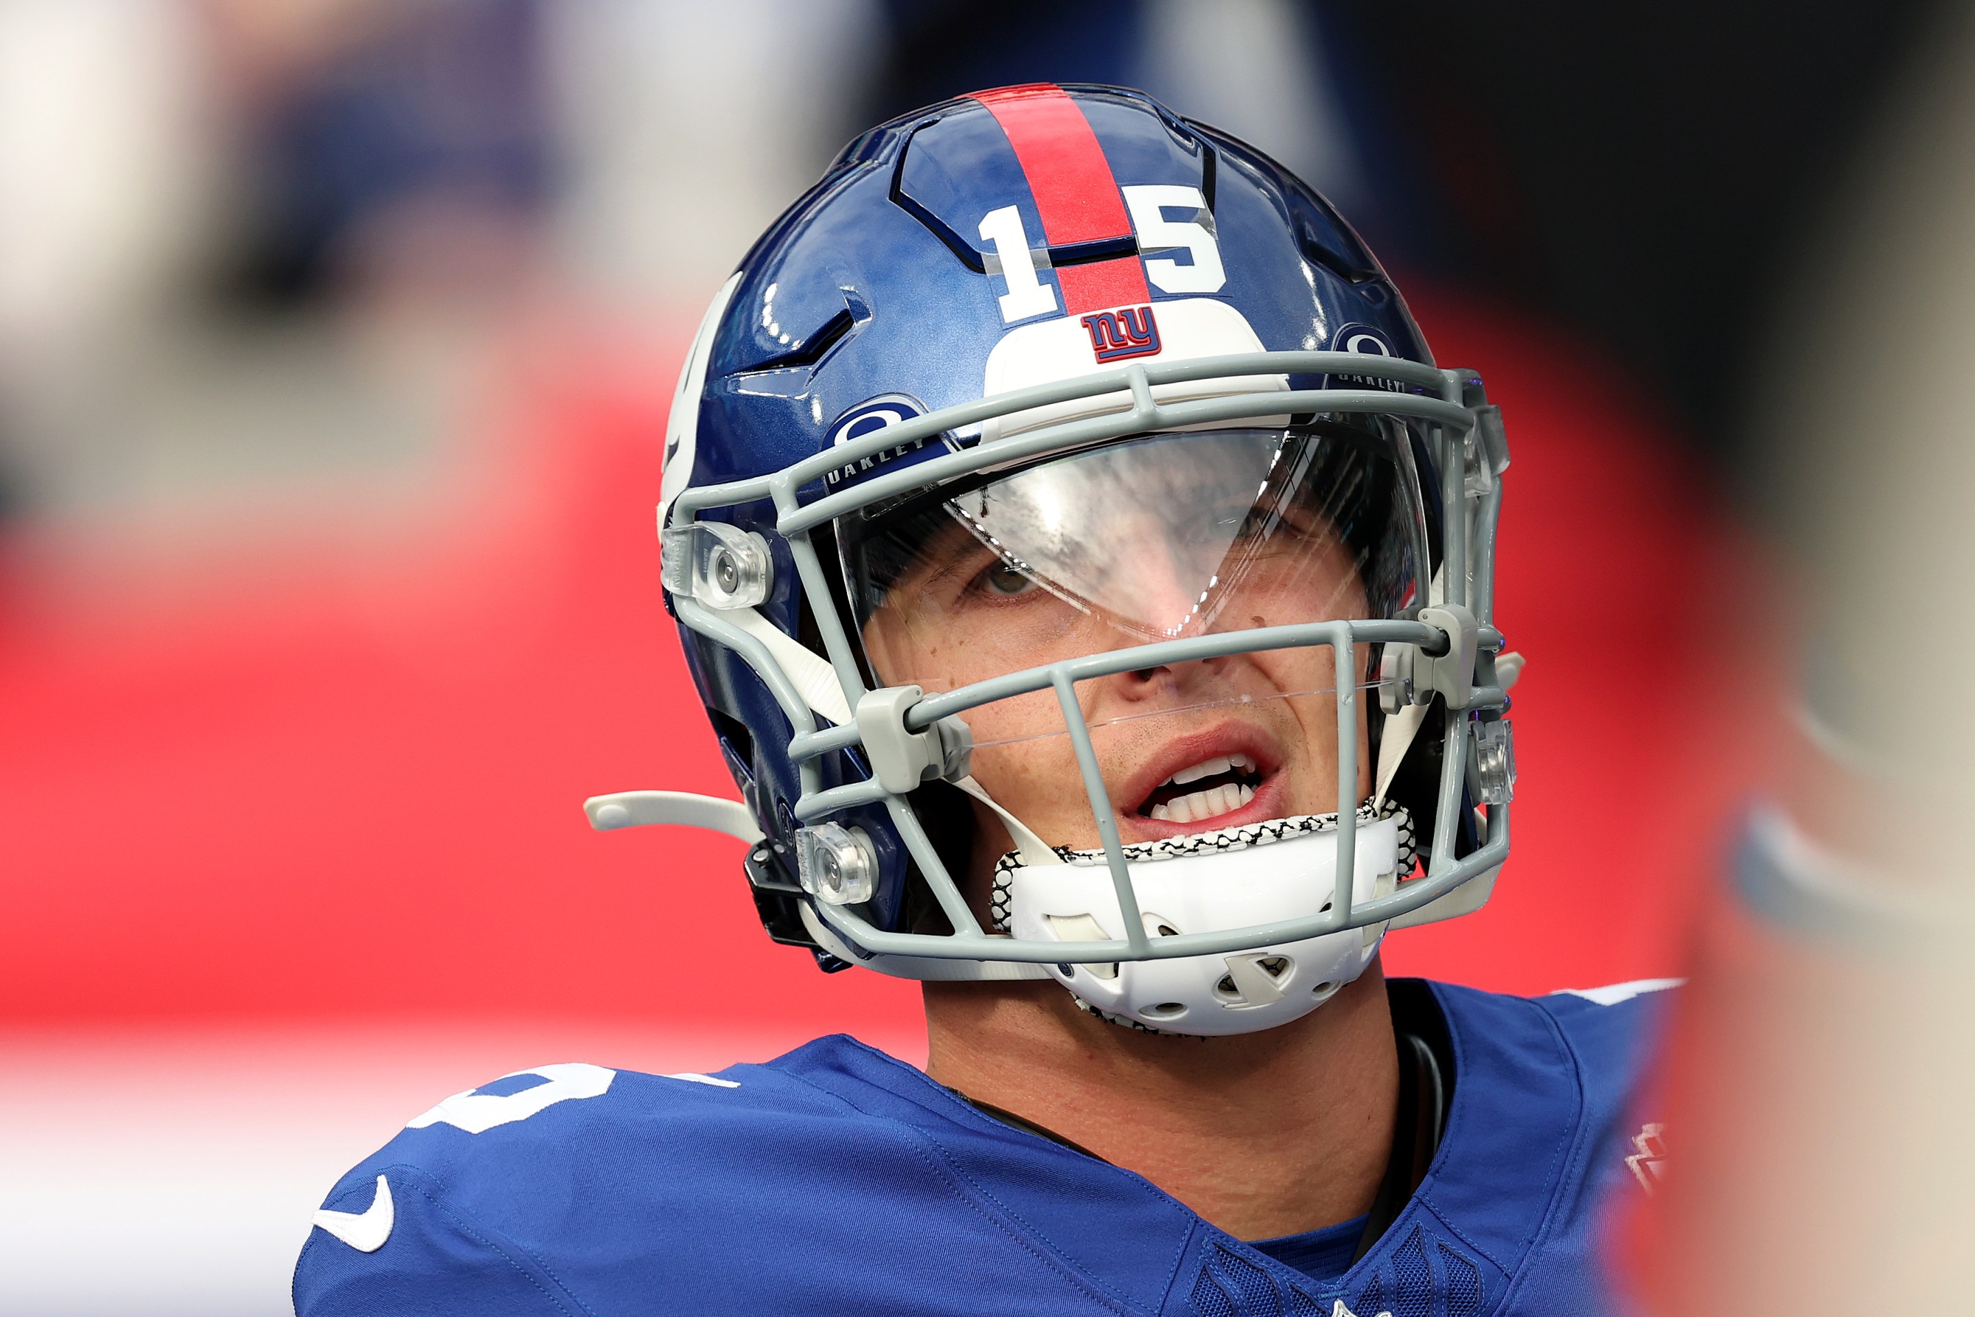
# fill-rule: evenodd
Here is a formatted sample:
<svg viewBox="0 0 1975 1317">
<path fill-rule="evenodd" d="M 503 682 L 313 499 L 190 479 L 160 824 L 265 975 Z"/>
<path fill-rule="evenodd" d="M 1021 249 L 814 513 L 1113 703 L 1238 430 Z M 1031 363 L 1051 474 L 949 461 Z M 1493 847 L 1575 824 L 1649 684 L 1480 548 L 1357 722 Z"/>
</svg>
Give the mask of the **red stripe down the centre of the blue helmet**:
<svg viewBox="0 0 1975 1317">
<path fill-rule="evenodd" d="M 1066 91 L 1055 83 L 1029 83 L 972 95 L 1015 148 L 1051 247 L 1132 237 L 1132 219 L 1098 134 Z M 1063 310 L 1070 316 L 1151 300 L 1138 257 L 1063 267 L 1057 284 L 1063 286 Z"/>
</svg>

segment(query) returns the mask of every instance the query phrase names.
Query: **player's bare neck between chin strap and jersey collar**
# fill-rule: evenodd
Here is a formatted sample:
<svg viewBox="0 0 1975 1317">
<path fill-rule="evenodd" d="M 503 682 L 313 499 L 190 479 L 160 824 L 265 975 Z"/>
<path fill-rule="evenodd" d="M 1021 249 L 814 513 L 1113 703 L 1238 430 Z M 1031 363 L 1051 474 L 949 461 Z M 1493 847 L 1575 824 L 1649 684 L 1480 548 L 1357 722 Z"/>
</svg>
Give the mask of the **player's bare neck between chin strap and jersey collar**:
<svg viewBox="0 0 1975 1317">
<path fill-rule="evenodd" d="M 1377 962 L 1294 1025 L 1175 1039 L 1057 983 L 926 983 L 926 1074 L 1136 1171 L 1244 1240 L 1371 1208 L 1398 1056 Z"/>
</svg>

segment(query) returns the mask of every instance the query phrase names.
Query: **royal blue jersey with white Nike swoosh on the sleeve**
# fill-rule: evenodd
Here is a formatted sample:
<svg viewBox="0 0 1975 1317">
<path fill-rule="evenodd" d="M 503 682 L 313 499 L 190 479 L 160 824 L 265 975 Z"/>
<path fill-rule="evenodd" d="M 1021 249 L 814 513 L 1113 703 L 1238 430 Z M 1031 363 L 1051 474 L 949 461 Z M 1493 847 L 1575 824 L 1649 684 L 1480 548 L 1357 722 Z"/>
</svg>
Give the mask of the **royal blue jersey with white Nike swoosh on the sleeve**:
<svg viewBox="0 0 1975 1317">
<path fill-rule="evenodd" d="M 1313 1281 L 1132 1171 L 831 1037 L 758 1066 L 541 1066 L 448 1098 L 330 1193 L 300 1317 L 1598 1313 L 1598 1220 L 1657 1171 L 1651 997 L 1432 985 L 1456 1060 L 1424 1183 Z"/>
</svg>

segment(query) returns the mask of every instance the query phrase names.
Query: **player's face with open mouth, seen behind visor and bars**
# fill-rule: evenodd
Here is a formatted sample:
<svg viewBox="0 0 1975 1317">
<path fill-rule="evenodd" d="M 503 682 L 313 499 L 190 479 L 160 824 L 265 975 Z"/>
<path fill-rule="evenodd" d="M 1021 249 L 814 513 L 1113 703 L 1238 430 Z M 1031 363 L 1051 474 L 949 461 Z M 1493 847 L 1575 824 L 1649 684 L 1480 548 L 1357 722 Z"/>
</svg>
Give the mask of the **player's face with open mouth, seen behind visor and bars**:
<svg viewBox="0 0 1975 1317">
<path fill-rule="evenodd" d="M 1132 644 L 1363 618 L 1359 563 L 1321 502 L 1296 496 L 1309 462 L 1304 452 L 1288 470 L 1292 456 L 1280 432 L 1209 432 L 1086 454 L 960 496 L 865 622 L 873 665 L 887 681 L 958 689 Z M 1122 839 L 1333 812 L 1335 685 L 1329 648 L 1078 683 Z M 1098 845 L 1053 691 L 966 719 L 974 776 L 989 796 L 1053 845 Z M 1363 719 L 1357 738 L 1363 794 Z M 978 867 L 991 865 L 1001 837 L 993 815 L 982 823 L 991 853 Z"/>
</svg>

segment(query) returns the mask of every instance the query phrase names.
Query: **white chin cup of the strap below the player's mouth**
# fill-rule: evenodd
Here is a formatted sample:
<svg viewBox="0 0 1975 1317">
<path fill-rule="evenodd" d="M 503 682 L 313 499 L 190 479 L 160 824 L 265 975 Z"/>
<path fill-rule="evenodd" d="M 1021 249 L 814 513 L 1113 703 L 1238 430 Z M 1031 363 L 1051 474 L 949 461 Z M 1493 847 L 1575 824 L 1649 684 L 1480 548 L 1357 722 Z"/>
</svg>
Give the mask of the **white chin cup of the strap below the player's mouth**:
<svg viewBox="0 0 1975 1317">
<path fill-rule="evenodd" d="M 1149 857 L 1146 851 L 1153 847 L 1128 847 L 1146 932 L 1221 932 L 1323 910 L 1337 883 L 1337 823 L 1333 817 L 1284 823 L 1305 829 L 1256 839 L 1238 835 L 1256 829 L 1209 833 L 1187 839 L 1189 845 L 1205 841 L 1191 855 Z M 1359 812 L 1353 902 L 1382 896 L 1398 885 L 1400 849 L 1398 817 L 1373 819 L 1369 810 Z M 1017 938 L 1090 942 L 1124 936 L 1102 853 L 1078 853 L 1066 865 L 1017 863 L 1003 873 L 1009 926 Z M 1256 1033 L 1302 1019 L 1329 1001 L 1365 971 L 1382 934 L 1384 926 L 1375 924 L 1226 956 L 1057 966 L 1053 977 L 1098 1011 L 1165 1033 Z"/>
</svg>

